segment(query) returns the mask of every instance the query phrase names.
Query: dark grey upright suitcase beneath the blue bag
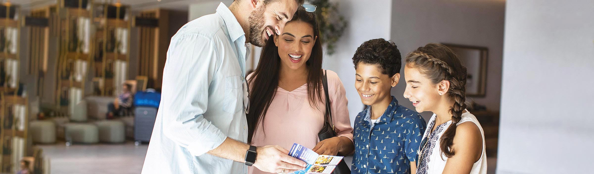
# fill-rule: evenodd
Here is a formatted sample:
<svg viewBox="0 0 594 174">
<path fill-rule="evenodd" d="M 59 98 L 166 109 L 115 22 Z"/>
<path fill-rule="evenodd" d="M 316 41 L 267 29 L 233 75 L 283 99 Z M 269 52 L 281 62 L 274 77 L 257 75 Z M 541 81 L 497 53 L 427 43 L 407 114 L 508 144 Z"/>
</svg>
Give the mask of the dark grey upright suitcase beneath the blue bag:
<svg viewBox="0 0 594 174">
<path fill-rule="evenodd" d="M 134 141 L 136 145 L 147 143 L 153 133 L 154 121 L 157 119 L 157 108 L 134 108 Z"/>
</svg>

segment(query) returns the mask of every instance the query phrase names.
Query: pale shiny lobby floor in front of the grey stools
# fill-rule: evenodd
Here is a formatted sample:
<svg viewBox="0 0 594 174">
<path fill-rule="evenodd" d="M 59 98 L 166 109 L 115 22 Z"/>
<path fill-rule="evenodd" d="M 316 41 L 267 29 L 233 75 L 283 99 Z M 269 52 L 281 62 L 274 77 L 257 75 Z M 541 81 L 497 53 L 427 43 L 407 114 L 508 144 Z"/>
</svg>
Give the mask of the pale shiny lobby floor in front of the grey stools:
<svg viewBox="0 0 594 174">
<path fill-rule="evenodd" d="M 50 157 L 52 174 L 140 174 L 146 156 L 147 144 L 74 144 L 41 145 Z"/>
</svg>

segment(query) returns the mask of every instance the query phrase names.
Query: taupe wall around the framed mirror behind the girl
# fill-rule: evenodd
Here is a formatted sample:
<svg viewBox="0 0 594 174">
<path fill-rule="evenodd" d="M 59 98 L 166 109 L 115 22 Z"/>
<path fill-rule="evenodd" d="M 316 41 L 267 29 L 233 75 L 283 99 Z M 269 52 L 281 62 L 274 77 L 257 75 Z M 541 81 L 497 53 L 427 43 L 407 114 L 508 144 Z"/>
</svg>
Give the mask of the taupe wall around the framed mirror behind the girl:
<svg viewBox="0 0 594 174">
<path fill-rule="evenodd" d="M 504 18 L 505 1 L 501 0 L 398 0 L 392 4 L 391 39 L 402 53 L 403 67 L 407 53 L 431 42 L 487 47 L 489 57 L 485 96 L 469 100 L 473 99 L 489 110 L 498 111 Z M 402 96 L 406 84 L 403 79 L 401 82 L 392 89 L 392 94 L 403 101 L 401 104 L 405 107 L 414 108 L 412 102 Z M 428 119 L 432 113 L 424 112 L 422 115 Z"/>
</svg>

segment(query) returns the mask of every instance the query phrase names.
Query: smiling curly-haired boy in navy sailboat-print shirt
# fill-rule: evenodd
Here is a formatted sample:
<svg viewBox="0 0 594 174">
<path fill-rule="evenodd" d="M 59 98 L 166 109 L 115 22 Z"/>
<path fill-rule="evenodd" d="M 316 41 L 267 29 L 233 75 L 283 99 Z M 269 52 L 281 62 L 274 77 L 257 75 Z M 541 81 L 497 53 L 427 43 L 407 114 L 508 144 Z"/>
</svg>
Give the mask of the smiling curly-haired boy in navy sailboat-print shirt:
<svg viewBox="0 0 594 174">
<path fill-rule="evenodd" d="M 402 56 L 383 38 L 365 41 L 353 56 L 355 88 L 367 106 L 355 118 L 352 173 L 416 173 L 425 120 L 390 94 L 400 79 Z"/>
</svg>

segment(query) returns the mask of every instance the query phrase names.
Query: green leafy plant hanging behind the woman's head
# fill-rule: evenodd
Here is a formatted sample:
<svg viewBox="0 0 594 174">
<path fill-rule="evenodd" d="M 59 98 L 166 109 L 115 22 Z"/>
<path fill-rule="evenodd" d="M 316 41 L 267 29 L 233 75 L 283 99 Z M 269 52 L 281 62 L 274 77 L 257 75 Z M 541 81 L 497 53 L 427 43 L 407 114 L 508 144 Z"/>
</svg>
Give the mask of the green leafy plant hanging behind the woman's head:
<svg viewBox="0 0 594 174">
<path fill-rule="evenodd" d="M 326 47 L 326 53 L 328 55 L 334 54 L 337 41 L 345 33 L 347 26 L 345 17 L 338 13 L 337 2 L 312 0 L 309 1 L 309 4 L 317 6 L 315 14 L 320 28 L 320 37 Z"/>
</svg>

